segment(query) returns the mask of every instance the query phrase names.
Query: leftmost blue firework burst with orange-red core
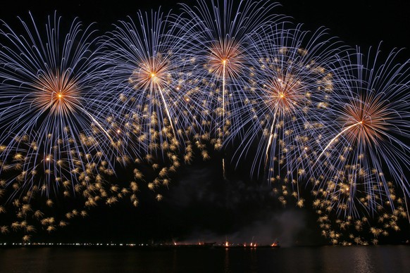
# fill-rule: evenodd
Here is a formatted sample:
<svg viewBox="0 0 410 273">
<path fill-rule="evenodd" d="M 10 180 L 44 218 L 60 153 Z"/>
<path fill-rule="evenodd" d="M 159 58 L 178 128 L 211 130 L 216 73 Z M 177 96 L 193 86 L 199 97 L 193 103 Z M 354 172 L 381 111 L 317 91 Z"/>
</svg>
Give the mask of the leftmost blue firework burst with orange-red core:
<svg viewBox="0 0 410 273">
<path fill-rule="evenodd" d="M 50 189 L 56 177 L 77 182 L 77 165 L 85 169 L 95 158 L 80 156 L 98 155 L 111 164 L 116 140 L 105 120 L 110 108 L 93 89 L 100 65 L 91 26 L 83 30 L 75 19 L 64 36 L 56 14 L 45 32 L 31 13 L 30 20 L 20 19 L 22 33 L 4 22 L 0 30 L 0 175 L 14 164 L 23 177 L 11 177 L 9 184 L 21 179 L 20 189 L 30 189 L 36 183 L 32 172 L 42 170 Z"/>
</svg>

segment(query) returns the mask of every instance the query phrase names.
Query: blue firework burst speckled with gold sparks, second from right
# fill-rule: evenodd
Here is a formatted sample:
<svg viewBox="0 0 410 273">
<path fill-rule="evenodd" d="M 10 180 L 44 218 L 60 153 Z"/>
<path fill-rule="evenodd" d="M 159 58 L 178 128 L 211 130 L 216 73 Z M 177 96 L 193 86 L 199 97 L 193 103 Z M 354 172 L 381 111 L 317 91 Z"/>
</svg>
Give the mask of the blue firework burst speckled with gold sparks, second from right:
<svg viewBox="0 0 410 273">
<path fill-rule="evenodd" d="M 250 49 L 257 63 L 247 87 L 250 110 L 232 110 L 241 122 L 232 125 L 230 137 L 240 139 L 239 160 L 254 158 L 252 175 L 294 184 L 311 175 L 321 112 L 333 93 L 333 56 L 342 47 L 324 29 L 310 33 L 285 23 L 266 31 L 271 34 Z"/>
</svg>

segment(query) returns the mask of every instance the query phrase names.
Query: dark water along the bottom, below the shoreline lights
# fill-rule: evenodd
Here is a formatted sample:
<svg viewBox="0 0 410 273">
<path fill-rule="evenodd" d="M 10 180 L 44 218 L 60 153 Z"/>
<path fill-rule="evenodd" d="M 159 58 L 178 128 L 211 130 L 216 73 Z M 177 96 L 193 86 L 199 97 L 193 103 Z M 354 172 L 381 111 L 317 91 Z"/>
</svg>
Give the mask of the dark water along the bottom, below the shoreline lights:
<svg viewBox="0 0 410 273">
<path fill-rule="evenodd" d="M 408 272 L 409 246 L 1 248 L 0 272 Z"/>
</svg>

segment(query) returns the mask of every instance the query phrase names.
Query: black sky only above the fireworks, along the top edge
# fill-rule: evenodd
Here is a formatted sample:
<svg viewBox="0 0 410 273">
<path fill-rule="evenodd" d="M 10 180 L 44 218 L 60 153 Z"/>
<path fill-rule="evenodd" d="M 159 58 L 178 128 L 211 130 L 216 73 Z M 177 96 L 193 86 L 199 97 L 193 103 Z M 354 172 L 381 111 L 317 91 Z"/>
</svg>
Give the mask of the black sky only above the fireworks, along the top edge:
<svg viewBox="0 0 410 273">
<path fill-rule="evenodd" d="M 101 30 L 127 15 L 141 9 L 149 11 L 159 8 L 165 12 L 178 11 L 178 3 L 194 4 L 195 1 L 8 1 L 1 8 L 0 18 L 10 22 L 15 16 L 23 18 L 32 11 L 40 18 L 58 11 L 63 18 L 79 17 L 85 23 L 97 22 Z M 340 37 L 349 44 L 373 46 L 384 41 L 386 46 L 406 47 L 409 45 L 410 3 L 406 0 L 392 1 L 278 1 L 282 4 L 278 13 L 304 23 L 307 29 L 325 26 L 330 34 Z"/>
</svg>

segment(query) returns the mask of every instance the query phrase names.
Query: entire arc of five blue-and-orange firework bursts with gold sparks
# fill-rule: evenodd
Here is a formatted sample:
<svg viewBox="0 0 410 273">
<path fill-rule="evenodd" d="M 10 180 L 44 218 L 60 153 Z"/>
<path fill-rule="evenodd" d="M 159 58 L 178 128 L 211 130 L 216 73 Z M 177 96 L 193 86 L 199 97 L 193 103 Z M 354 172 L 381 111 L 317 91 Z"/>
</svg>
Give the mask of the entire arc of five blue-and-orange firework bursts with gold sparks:
<svg viewBox="0 0 410 273">
<path fill-rule="evenodd" d="M 161 202 L 201 160 L 223 179 L 247 168 L 333 244 L 408 227 L 405 50 L 347 45 L 278 6 L 199 0 L 107 32 L 58 11 L 1 20 L 1 234 L 29 243 L 94 207 Z"/>
</svg>

